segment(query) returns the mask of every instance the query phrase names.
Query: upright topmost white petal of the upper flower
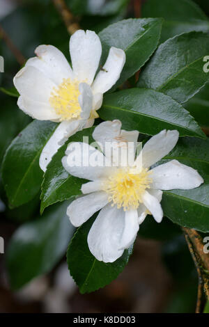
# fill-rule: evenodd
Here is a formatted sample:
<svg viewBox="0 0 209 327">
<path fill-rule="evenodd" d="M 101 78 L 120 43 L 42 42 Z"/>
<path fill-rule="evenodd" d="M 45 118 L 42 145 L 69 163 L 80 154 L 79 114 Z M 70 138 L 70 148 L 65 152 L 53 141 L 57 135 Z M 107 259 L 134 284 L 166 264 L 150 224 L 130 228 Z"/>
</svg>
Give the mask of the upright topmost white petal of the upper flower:
<svg viewBox="0 0 209 327">
<path fill-rule="evenodd" d="M 91 85 L 100 63 L 102 45 L 93 31 L 76 31 L 70 38 L 72 70 L 79 81 Z"/>
</svg>

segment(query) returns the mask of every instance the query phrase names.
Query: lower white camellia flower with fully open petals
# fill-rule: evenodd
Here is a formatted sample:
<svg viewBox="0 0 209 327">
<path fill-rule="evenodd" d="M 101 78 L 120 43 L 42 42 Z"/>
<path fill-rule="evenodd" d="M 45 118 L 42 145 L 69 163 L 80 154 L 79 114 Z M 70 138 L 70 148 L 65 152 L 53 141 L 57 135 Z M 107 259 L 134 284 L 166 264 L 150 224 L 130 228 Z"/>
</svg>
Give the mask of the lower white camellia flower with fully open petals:
<svg viewBox="0 0 209 327">
<path fill-rule="evenodd" d="M 101 209 L 88 233 L 88 247 L 100 261 L 114 262 L 121 257 L 124 249 L 133 244 L 147 214 L 152 214 L 157 223 L 162 221 L 162 190 L 194 189 L 203 183 L 196 170 L 177 160 L 150 169 L 176 145 L 176 130 L 163 130 L 151 137 L 133 166 L 115 166 L 118 157 L 114 156 L 118 152 L 109 155 L 104 145 L 111 142 L 114 149 L 116 146 L 122 148 L 124 144 L 137 143 L 138 136 L 138 131 L 121 130 L 119 120 L 102 122 L 95 127 L 93 138 L 104 149 L 104 154 L 86 143 L 70 143 L 62 159 L 68 173 L 91 181 L 82 185 L 82 193 L 86 195 L 74 200 L 67 214 L 77 227 Z M 84 166 L 72 165 L 75 158 L 72 148 L 82 148 L 78 155 L 82 157 L 81 162 L 85 162 Z M 98 163 L 107 159 L 108 164 L 92 166 L 92 158 Z M 137 164 L 139 162 L 141 165 Z"/>
</svg>

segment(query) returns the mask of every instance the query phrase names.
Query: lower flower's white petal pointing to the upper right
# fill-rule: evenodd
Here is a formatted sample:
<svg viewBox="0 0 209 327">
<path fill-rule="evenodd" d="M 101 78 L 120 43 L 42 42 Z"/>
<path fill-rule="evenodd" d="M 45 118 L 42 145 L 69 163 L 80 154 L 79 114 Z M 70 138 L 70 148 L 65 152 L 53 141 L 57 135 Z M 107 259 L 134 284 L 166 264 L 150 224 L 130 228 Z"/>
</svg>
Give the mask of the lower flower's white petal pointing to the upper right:
<svg viewBox="0 0 209 327">
<path fill-rule="evenodd" d="M 150 167 L 175 147 L 178 141 L 178 131 L 160 131 L 157 135 L 150 138 L 142 150 L 143 167 Z"/>
</svg>

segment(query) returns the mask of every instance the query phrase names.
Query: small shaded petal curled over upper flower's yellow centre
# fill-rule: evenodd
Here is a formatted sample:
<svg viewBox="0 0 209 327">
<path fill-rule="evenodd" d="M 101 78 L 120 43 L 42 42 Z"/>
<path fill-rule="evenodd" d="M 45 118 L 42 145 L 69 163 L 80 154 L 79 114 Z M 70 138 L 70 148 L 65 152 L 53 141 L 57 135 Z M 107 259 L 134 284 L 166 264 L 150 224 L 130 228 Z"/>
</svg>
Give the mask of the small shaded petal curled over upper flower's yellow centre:
<svg viewBox="0 0 209 327">
<path fill-rule="evenodd" d="M 79 84 L 80 95 L 78 97 L 79 104 L 82 108 L 81 117 L 82 119 L 88 119 L 93 107 L 93 94 L 91 92 L 91 87 L 86 83 Z"/>
</svg>

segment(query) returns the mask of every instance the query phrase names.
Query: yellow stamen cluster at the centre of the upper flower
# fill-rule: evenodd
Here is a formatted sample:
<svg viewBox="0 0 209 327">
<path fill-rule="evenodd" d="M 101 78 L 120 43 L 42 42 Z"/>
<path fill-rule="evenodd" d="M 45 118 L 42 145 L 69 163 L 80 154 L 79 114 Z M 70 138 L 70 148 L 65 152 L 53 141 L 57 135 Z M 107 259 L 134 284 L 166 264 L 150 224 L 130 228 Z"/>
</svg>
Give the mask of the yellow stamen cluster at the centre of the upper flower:
<svg viewBox="0 0 209 327">
<path fill-rule="evenodd" d="M 61 121 L 79 118 L 82 111 L 78 97 L 79 81 L 72 79 L 63 79 L 62 83 L 53 88 L 49 104 L 54 108 L 58 115 L 61 115 Z"/>
</svg>

